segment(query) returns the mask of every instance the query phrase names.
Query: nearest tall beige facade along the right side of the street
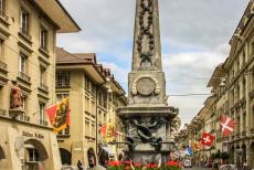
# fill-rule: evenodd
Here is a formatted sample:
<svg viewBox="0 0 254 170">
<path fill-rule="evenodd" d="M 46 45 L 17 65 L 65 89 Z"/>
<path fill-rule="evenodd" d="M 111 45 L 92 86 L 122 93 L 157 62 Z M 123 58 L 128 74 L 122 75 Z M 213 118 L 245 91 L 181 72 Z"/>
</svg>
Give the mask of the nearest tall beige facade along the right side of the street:
<svg viewBox="0 0 254 170">
<path fill-rule="evenodd" d="M 218 65 L 209 82 L 215 117 L 215 148 L 230 153 L 230 162 L 244 162 L 254 168 L 254 3 L 250 1 L 231 41 L 225 62 Z M 221 115 L 237 123 L 234 132 L 224 137 L 220 128 Z"/>
</svg>

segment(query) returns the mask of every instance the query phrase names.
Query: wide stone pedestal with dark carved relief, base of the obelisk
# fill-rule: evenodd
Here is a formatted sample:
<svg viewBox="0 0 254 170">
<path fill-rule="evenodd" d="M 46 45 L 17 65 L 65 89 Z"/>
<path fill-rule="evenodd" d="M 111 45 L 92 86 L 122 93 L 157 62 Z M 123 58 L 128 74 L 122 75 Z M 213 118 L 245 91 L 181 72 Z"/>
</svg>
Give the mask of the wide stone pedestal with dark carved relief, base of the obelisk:
<svg viewBox="0 0 254 170">
<path fill-rule="evenodd" d="M 178 109 L 168 106 L 127 106 L 118 108 L 126 125 L 127 158 L 135 162 L 166 162 L 172 150 L 171 120 Z"/>
</svg>

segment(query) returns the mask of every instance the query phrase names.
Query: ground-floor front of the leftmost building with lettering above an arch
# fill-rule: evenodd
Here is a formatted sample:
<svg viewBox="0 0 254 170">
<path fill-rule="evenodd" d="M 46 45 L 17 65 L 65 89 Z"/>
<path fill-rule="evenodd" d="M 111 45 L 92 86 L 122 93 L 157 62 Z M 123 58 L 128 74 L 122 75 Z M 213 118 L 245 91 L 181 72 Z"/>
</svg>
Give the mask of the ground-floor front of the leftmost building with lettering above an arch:
<svg viewBox="0 0 254 170">
<path fill-rule="evenodd" d="M 0 134 L 0 169 L 61 169 L 59 146 L 51 128 L 1 124 Z"/>
</svg>

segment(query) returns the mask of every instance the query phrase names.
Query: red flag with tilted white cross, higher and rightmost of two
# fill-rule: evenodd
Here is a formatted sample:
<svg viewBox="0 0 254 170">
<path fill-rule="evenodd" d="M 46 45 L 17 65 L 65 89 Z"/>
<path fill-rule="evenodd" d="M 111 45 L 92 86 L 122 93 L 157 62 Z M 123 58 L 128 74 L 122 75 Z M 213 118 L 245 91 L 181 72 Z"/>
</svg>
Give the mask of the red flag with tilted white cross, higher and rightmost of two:
<svg viewBox="0 0 254 170">
<path fill-rule="evenodd" d="M 234 131 L 234 127 L 236 126 L 236 121 L 230 118 L 226 115 L 221 116 L 221 130 L 224 136 L 229 136 Z"/>
</svg>

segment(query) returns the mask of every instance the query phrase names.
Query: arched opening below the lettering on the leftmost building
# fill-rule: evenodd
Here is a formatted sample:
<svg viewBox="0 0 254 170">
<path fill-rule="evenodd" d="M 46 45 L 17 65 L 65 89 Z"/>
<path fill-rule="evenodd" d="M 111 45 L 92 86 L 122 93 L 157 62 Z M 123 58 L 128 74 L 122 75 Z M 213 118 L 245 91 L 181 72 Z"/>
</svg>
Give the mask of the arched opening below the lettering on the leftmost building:
<svg viewBox="0 0 254 170">
<path fill-rule="evenodd" d="M 24 169 L 25 170 L 45 170 L 44 161 L 49 155 L 41 141 L 29 139 L 24 142 Z"/>
</svg>

